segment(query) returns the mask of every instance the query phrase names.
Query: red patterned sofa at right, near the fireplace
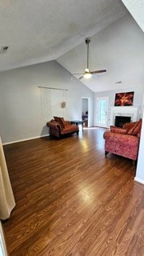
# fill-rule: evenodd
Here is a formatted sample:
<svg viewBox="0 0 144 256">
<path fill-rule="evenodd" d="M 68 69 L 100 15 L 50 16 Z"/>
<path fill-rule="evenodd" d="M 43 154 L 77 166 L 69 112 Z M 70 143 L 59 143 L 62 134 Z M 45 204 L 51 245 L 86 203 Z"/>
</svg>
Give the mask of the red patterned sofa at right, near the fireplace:
<svg viewBox="0 0 144 256">
<path fill-rule="evenodd" d="M 122 128 L 110 126 L 110 130 L 106 130 L 103 134 L 105 154 L 110 152 L 136 161 L 141 127 L 142 119 L 138 122 L 126 123 Z"/>
</svg>

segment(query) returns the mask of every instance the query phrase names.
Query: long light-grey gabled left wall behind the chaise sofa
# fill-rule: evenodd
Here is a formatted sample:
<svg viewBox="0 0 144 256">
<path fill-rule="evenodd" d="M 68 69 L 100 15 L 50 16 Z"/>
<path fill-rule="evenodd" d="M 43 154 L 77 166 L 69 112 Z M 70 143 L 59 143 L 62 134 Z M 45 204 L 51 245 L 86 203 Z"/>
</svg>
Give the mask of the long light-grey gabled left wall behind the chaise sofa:
<svg viewBox="0 0 144 256">
<path fill-rule="evenodd" d="M 94 93 L 56 61 L 26 66 L 0 73 L 0 134 L 2 142 L 14 142 L 48 134 L 42 116 L 38 86 L 68 89 L 66 118 L 81 118 L 82 96 L 90 97 L 93 124 Z M 54 109 L 58 114 L 58 109 Z"/>
</svg>

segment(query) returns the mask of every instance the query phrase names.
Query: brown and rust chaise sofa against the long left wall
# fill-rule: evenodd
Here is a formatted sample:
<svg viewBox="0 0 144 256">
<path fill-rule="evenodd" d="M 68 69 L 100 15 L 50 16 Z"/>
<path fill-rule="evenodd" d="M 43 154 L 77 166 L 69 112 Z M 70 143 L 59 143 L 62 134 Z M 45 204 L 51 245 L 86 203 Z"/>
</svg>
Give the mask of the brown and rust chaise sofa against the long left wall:
<svg viewBox="0 0 144 256">
<path fill-rule="evenodd" d="M 72 125 L 70 121 L 65 121 L 64 118 L 54 117 L 50 122 L 46 123 L 50 128 L 50 136 L 62 138 L 65 134 L 74 134 L 79 132 L 79 127 Z"/>
</svg>

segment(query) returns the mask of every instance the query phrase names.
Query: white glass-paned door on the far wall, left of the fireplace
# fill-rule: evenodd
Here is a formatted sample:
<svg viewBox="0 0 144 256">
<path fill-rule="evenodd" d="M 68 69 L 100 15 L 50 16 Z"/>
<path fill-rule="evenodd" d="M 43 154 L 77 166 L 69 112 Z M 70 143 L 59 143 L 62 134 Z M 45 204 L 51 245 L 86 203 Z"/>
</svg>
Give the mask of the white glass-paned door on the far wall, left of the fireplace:
<svg viewBox="0 0 144 256">
<path fill-rule="evenodd" d="M 107 127 L 108 101 L 108 97 L 96 98 L 96 126 Z"/>
</svg>

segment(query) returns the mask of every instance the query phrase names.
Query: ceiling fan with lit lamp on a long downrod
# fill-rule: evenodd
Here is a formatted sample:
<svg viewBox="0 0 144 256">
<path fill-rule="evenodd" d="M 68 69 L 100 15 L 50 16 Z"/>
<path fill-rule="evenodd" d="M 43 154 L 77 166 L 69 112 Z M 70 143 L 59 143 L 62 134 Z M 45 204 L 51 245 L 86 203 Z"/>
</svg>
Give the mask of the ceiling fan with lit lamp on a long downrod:
<svg viewBox="0 0 144 256">
<path fill-rule="evenodd" d="M 86 66 L 86 69 L 85 69 L 83 74 L 82 73 L 75 73 L 75 74 L 82 74 L 82 77 L 80 77 L 79 79 L 91 78 L 91 76 L 93 74 L 106 72 L 106 70 L 96 70 L 96 71 L 90 71 L 89 70 L 89 43 L 90 43 L 90 38 L 86 38 L 85 42 L 86 42 L 86 45 L 87 45 L 87 66 Z"/>
</svg>

